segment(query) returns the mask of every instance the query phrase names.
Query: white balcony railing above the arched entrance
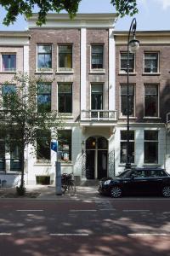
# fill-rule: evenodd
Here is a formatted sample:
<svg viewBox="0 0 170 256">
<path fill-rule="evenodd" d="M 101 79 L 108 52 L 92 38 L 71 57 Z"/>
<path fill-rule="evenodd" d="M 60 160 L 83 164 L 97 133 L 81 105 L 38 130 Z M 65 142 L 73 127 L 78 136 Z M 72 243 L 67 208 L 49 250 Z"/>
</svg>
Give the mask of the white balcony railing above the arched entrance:
<svg viewBox="0 0 170 256">
<path fill-rule="evenodd" d="M 116 110 L 82 110 L 81 121 L 116 121 Z"/>
</svg>

